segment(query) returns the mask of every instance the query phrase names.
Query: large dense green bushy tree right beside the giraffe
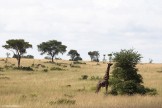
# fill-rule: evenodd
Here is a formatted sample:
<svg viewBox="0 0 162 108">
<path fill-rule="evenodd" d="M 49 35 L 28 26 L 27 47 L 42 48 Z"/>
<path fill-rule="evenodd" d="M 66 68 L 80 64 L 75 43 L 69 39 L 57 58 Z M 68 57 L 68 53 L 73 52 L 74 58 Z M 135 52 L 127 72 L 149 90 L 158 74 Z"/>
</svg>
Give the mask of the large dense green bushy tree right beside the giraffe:
<svg viewBox="0 0 162 108">
<path fill-rule="evenodd" d="M 133 49 L 114 53 L 113 60 L 115 65 L 110 81 L 110 84 L 112 84 L 112 94 L 146 94 L 151 91 L 141 85 L 143 83 L 142 76 L 137 73 L 136 65 L 140 62 L 141 58 L 141 54 Z"/>
</svg>

